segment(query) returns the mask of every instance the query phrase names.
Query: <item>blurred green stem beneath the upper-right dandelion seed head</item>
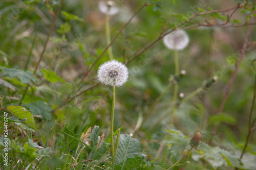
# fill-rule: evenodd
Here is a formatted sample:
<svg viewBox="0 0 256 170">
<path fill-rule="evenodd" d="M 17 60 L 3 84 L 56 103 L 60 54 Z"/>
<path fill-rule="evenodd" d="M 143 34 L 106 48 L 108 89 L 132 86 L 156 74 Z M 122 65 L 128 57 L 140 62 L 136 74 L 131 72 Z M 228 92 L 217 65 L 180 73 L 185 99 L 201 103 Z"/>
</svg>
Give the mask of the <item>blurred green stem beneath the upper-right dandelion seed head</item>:
<svg viewBox="0 0 256 170">
<path fill-rule="evenodd" d="M 175 75 L 179 75 L 179 56 L 178 56 L 178 51 L 174 50 L 174 59 L 175 59 Z M 173 98 L 173 109 L 171 111 L 171 118 L 170 118 L 170 129 L 172 129 L 174 125 L 174 118 L 175 118 L 175 112 L 176 112 L 176 107 L 177 107 L 177 99 L 178 99 L 178 91 L 179 91 L 179 83 L 177 82 L 174 85 L 174 98 Z"/>
</svg>

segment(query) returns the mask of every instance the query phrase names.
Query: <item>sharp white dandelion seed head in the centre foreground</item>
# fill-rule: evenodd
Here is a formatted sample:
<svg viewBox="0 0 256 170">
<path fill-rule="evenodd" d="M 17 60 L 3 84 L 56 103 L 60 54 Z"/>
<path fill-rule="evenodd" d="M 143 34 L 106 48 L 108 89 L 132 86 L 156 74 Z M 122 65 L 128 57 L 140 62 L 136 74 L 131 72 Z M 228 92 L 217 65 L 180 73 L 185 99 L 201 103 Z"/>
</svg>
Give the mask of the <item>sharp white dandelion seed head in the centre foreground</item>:
<svg viewBox="0 0 256 170">
<path fill-rule="evenodd" d="M 104 85 L 119 87 L 128 79 L 127 67 L 116 61 L 108 61 L 102 64 L 98 70 L 98 79 Z"/>
</svg>

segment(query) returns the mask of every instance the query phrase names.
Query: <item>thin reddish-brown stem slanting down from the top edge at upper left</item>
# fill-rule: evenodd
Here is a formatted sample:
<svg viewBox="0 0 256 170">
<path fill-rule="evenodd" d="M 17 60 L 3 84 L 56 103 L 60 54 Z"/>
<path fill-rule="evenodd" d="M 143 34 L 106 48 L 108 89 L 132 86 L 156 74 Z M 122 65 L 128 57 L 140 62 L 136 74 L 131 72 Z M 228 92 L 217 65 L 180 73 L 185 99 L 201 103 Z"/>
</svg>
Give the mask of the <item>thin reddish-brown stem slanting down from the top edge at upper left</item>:
<svg viewBox="0 0 256 170">
<path fill-rule="evenodd" d="M 51 36 L 51 34 L 52 34 L 53 28 L 54 28 L 54 26 L 55 26 L 56 19 L 57 19 L 58 15 L 59 15 L 59 12 L 60 12 L 60 9 L 61 9 L 61 7 L 62 7 L 62 5 L 63 5 L 63 2 L 64 2 L 64 0 L 61 0 L 60 5 L 59 5 L 59 8 L 58 8 L 58 11 L 57 11 L 57 13 L 56 13 L 56 15 L 55 15 L 55 17 L 54 17 L 54 19 L 53 19 L 53 22 L 52 22 L 50 31 L 49 31 L 49 33 L 48 33 L 48 36 L 47 36 L 47 39 L 46 39 L 44 48 L 42 49 L 41 55 L 40 55 L 40 57 L 39 57 L 39 60 L 37 61 L 37 64 L 36 64 L 36 67 L 35 67 L 35 70 L 34 70 L 34 73 L 33 73 L 34 75 L 36 74 L 37 68 L 38 68 L 38 66 L 39 66 L 39 64 L 40 64 L 40 62 L 41 62 L 41 60 L 42 60 L 42 56 L 44 55 L 44 53 L 45 53 L 45 51 L 46 51 L 46 47 L 47 47 L 48 41 L 49 41 L 50 36 Z M 26 89 L 25 89 L 25 92 L 23 93 L 22 99 L 20 99 L 19 105 L 22 104 L 22 101 L 23 101 L 23 99 L 24 99 L 24 97 L 25 97 L 25 95 L 26 95 L 26 93 L 27 93 L 27 91 L 28 91 L 28 88 L 29 88 L 29 85 L 27 85 L 27 87 L 26 87 Z"/>
</svg>

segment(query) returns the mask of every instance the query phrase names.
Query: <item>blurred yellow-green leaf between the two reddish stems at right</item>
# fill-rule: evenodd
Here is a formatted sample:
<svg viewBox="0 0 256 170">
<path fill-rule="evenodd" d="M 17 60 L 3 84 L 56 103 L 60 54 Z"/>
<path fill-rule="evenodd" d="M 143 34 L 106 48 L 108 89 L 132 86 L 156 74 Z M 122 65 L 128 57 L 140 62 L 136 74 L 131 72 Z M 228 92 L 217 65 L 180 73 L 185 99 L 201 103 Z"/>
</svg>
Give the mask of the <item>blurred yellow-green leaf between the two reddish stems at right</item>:
<svg viewBox="0 0 256 170">
<path fill-rule="evenodd" d="M 224 113 L 213 115 L 208 119 L 208 123 L 211 125 L 219 125 L 221 122 L 234 125 L 237 123 L 237 120 Z"/>
</svg>

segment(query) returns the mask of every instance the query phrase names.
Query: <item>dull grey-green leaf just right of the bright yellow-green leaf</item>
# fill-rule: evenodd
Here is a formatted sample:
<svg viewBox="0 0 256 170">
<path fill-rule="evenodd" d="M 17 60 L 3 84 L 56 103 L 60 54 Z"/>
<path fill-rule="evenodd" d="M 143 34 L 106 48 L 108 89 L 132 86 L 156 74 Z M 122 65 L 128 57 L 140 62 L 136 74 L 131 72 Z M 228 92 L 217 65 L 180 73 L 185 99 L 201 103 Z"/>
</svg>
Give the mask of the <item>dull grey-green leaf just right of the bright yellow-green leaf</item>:
<svg viewBox="0 0 256 170">
<path fill-rule="evenodd" d="M 33 115 L 42 115 L 42 118 L 50 120 L 52 118 L 52 108 L 44 101 L 31 102 L 27 105 Z"/>
</svg>

